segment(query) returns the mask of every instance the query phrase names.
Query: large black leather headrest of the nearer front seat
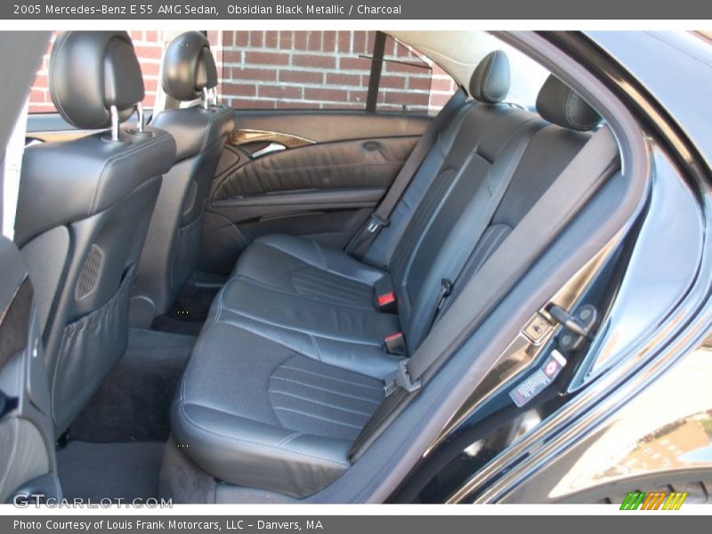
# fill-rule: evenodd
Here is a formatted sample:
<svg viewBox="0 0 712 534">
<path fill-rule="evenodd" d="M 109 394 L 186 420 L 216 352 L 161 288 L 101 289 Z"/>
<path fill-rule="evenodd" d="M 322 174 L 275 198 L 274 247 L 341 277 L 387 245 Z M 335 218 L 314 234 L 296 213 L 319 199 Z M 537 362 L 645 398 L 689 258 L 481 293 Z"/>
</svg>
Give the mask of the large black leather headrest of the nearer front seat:
<svg viewBox="0 0 712 534">
<path fill-rule="evenodd" d="M 119 122 L 143 100 L 141 66 L 125 31 L 68 31 L 50 55 L 50 94 L 70 124 L 98 130 L 111 125 L 111 106 Z"/>
</svg>

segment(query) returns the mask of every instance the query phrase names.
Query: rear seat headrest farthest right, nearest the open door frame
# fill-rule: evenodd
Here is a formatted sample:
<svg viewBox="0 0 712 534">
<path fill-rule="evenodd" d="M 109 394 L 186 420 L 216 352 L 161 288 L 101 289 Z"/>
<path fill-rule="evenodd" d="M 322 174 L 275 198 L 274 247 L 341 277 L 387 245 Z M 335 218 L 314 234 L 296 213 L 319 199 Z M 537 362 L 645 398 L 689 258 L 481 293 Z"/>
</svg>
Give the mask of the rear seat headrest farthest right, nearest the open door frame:
<svg viewBox="0 0 712 534">
<path fill-rule="evenodd" d="M 537 110 L 550 123 L 579 132 L 592 130 L 601 122 L 595 109 L 553 74 L 539 90 Z"/>
</svg>

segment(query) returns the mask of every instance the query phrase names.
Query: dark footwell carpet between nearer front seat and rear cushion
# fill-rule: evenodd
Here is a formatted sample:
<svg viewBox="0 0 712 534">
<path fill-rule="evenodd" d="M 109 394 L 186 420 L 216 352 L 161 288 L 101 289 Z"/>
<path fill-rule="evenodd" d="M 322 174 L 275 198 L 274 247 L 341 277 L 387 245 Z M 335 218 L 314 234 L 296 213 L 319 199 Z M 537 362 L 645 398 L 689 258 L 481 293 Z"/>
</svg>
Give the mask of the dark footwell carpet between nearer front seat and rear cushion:
<svg viewBox="0 0 712 534">
<path fill-rule="evenodd" d="M 132 328 L 128 349 L 69 427 L 72 441 L 166 441 L 169 409 L 195 337 Z"/>
</svg>

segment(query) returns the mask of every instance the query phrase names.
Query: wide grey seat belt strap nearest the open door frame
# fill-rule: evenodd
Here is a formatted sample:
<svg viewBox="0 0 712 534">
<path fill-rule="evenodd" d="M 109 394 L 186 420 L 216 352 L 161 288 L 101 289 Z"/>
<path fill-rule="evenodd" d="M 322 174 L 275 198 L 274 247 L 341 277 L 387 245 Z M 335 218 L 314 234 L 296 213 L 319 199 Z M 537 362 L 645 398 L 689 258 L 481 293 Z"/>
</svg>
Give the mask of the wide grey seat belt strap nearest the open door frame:
<svg viewBox="0 0 712 534">
<path fill-rule="evenodd" d="M 490 258 L 475 273 L 457 300 L 438 321 L 399 372 L 401 382 L 376 409 L 354 442 L 358 458 L 390 425 L 406 403 L 465 342 L 522 275 L 535 263 L 571 219 L 619 168 L 616 140 L 608 126 L 596 132 L 556 181 L 524 215 Z M 472 303 L 479 303 L 472 306 Z M 390 384 L 386 384 L 386 388 Z"/>
</svg>

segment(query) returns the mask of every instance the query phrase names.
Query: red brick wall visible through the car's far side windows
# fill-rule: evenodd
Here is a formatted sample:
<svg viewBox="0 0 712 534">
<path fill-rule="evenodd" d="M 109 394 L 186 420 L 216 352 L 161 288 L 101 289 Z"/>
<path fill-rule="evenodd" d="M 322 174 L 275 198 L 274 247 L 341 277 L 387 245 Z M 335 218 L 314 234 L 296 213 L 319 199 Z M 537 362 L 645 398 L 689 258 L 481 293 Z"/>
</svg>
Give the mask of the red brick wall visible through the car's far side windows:
<svg viewBox="0 0 712 534">
<path fill-rule="evenodd" d="M 161 31 L 131 31 L 146 86 L 143 105 L 156 99 Z M 210 31 L 220 75 L 219 93 L 235 108 L 363 109 L 373 31 Z M 53 36 L 54 41 L 54 36 Z M 378 95 L 380 110 L 431 113 L 456 90 L 452 79 L 425 58 L 389 38 Z M 30 112 L 54 111 L 47 87 L 49 51 L 29 98 Z M 427 67 L 426 69 L 418 68 Z M 432 72 L 431 72 L 432 69 Z"/>
</svg>

